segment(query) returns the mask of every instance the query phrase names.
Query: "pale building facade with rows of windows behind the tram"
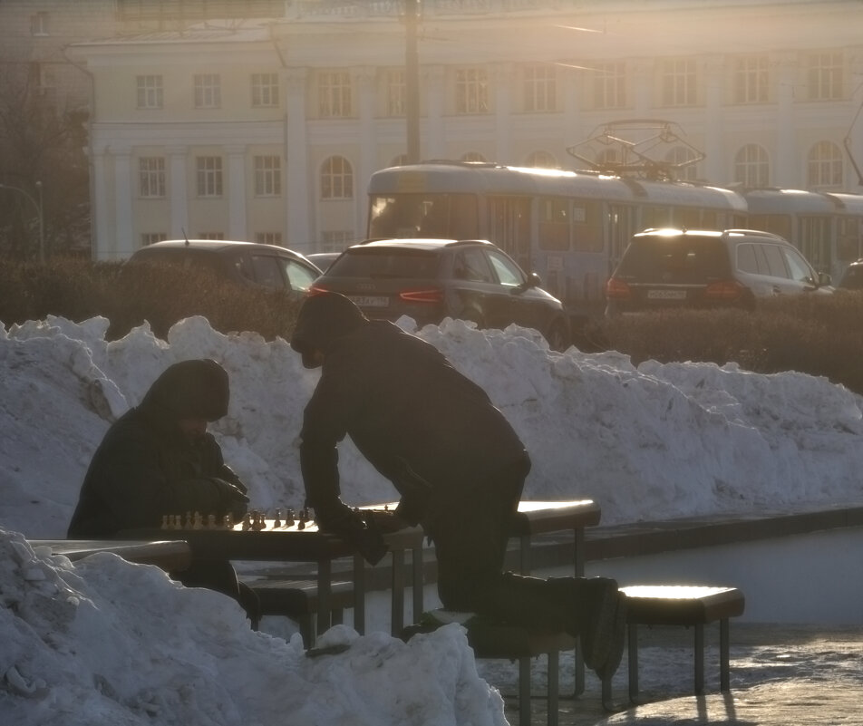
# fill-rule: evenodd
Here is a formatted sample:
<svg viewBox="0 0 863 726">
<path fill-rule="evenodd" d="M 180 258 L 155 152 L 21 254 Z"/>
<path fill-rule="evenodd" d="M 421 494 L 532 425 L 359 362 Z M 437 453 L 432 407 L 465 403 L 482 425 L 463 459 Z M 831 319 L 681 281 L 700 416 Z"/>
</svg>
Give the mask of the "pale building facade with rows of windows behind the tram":
<svg viewBox="0 0 863 726">
<path fill-rule="evenodd" d="M 567 148 L 596 128 L 663 120 L 685 134 L 665 160 L 703 151 L 685 178 L 861 190 L 858 0 L 422 6 L 422 159 L 579 168 Z M 184 235 L 305 253 L 363 238 L 369 177 L 407 151 L 402 9 L 288 3 L 70 48 L 92 74 L 93 257 Z"/>
</svg>

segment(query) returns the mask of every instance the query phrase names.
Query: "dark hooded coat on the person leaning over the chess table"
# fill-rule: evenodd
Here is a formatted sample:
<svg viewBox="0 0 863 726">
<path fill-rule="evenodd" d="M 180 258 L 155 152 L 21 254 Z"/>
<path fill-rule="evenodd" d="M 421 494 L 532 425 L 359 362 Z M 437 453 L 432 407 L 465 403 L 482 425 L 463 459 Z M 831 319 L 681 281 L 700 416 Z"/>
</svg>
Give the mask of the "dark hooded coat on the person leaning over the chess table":
<svg viewBox="0 0 863 726">
<path fill-rule="evenodd" d="M 509 422 L 436 348 L 328 297 L 306 302 L 292 341 L 304 361 L 312 348 L 325 353 L 300 446 L 306 493 L 322 524 L 344 511 L 336 445 L 345 435 L 393 482 L 398 514 L 412 524 L 475 502 L 496 472 L 524 467 L 528 455 Z"/>
</svg>

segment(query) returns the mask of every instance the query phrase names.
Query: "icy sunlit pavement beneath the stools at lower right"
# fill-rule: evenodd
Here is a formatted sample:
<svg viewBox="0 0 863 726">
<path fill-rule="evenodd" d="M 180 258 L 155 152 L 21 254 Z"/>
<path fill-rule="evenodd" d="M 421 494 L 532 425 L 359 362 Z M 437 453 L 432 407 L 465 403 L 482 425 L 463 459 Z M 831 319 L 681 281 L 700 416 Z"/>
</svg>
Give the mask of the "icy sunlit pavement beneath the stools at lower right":
<svg viewBox="0 0 863 726">
<path fill-rule="evenodd" d="M 705 629 L 706 692 L 692 694 L 692 631 L 639 629 L 641 705 L 628 702 L 626 657 L 615 681 L 621 711 L 608 713 L 599 682 L 560 703 L 560 726 L 833 726 L 863 724 L 863 627 L 737 624 L 732 622 L 732 691 L 719 691 L 718 634 Z M 715 638 L 716 642 L 713 642 Z M 534 663 L 534 692 L 545 688 L 545 663 Z M 478 663 L 480 674 L 505 697 L 515 693 L 518 673 L 509 663 Z M 510 673 L 511 672 L 511 673 Z M 561 656 L 561 692 L 572 692 L 572 656 Z M 518 723 L 518 701 L 506 697 L 506 716 Z M 532 701 L 533 726 L 546 723 L 545 702 Z"/>
</svg>

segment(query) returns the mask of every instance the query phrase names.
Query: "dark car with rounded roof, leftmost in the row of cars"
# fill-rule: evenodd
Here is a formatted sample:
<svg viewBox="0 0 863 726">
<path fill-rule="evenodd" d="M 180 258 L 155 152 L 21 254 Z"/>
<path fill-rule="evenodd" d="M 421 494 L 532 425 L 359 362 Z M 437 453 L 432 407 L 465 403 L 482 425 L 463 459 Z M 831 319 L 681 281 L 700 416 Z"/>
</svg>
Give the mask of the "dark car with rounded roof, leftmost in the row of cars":
<svg viewBox="0 0 863 726">
<path fill-rule="evenodd" d="M 321 270 L 286 247 L 224 239 L 171 239 L 136 250 L 127 264 L 208 267 L 238 285 L 288 290 L 305 297 Z"/>
</svg>

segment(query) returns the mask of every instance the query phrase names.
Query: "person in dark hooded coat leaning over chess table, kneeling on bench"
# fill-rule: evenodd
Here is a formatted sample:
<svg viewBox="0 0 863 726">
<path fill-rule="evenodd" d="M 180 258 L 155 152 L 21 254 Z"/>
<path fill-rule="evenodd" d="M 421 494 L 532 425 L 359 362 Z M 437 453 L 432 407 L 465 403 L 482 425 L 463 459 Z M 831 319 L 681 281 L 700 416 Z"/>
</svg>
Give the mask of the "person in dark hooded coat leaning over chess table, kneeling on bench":
<svg viewBox="0 0 863 726">
<path fill-rule="evenodd" d="M 587 665 L 600 677 L 614 673 L 625 621 L 614 580 L 503 572 L 530 460 L 480 386 L 432 345 L 368 320 L 343 295 L 308 298 L 291 346 L 305 367 L 322 368 L 300 435 L 306 496 L 320 525 L 374 562 L 385 551 L 380 529 L 421 524 L 435 546 L 445 608 L 581 635 Z M 345 435 L 398 489 L 393 514 L 372 520 L 341 501 L 336 447 Z"/>
</svg>

